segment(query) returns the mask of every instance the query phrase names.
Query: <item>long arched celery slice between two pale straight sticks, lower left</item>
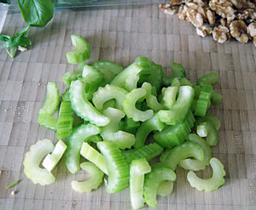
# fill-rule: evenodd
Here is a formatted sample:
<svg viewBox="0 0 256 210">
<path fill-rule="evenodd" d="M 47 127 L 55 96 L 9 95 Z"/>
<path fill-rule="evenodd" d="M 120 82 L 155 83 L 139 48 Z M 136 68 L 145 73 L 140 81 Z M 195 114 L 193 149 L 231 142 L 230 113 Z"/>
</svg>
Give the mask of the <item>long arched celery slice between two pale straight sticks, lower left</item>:
<svg viewBox="0 0 256 210">
<path fill-rule="evenodd" d="M 66 166 L 70 173 L 77 173 L 80 169 L 80 150 L 83 142 L 98 133 L 100 128 L 92 124 L 81 124 L 73 128 L 72 135 L 67 139 Z"/>
</svg>

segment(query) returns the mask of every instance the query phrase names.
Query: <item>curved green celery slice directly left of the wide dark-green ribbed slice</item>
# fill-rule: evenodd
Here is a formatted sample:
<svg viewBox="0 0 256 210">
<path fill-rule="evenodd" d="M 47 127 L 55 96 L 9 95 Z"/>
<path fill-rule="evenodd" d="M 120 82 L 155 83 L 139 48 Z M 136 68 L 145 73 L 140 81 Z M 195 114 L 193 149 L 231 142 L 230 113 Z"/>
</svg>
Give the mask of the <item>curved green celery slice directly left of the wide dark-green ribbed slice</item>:
<svg viewBox="0 0 256 210">
<path fill-rule="evenodd" d="M 158 115 L 154 114 L 150 119 L 143 122 L 137 129 L 136 142 L 134 147 L 139 148 L 145 144 L 148 134 L 154 130 L 161 131 L 165 127 L 163 122 L 160 122 Z"/>
</svg>

